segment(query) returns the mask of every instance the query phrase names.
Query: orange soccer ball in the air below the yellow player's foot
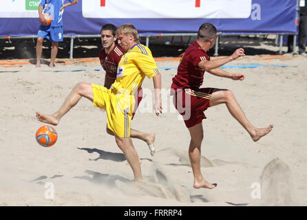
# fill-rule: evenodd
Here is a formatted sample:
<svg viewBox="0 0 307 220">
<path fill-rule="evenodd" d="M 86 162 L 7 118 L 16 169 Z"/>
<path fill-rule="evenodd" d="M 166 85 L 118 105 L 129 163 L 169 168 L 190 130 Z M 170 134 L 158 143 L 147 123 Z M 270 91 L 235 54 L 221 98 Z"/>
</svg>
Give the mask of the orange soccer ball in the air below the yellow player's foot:
<svg viewBox="0 0 307 220">
<path fill-rule="evenodd" d="M 41 144 L 41 146 L 52 146 L 58 140 L 58 134 L 52 126 L 41 126 L 36 131 L 36 141 Z"/>
</svg>

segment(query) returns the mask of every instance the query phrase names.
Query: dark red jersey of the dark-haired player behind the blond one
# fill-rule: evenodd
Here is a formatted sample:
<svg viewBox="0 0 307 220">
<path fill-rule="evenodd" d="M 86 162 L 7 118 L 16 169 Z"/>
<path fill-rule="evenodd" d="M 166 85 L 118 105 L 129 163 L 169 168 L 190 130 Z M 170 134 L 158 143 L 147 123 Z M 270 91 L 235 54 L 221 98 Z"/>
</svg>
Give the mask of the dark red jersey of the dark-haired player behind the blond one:
<svg viewBox="0 0 307 220">
<path fill-rule="evenodd" d="M 109 54 L 105 53 L 105 49 L 100 50 L 100 64 L 103 69 L 105 69 L 106 74 L 112 79 L 116 79 L 117 66 L 123 54 L 125 54 L 125 50 L 123 50 L 118 45 L 115 45 Z"/>
</svg>

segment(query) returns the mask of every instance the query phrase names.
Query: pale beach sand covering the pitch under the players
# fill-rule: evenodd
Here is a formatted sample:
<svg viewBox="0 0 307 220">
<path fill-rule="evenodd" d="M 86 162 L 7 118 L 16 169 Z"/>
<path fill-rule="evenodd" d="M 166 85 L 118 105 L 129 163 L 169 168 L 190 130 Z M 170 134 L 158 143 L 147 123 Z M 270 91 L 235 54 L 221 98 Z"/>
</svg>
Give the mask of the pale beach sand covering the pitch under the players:
<svg viewBox="0 0 307 220">
<path fill-rule="evenodd" d="M 136 184 L 105 132 L 105 112 L 85 98 L 54 126 L 54 146 L 44 148 L 34 137 L 43 125 L 36 111 L 53 113 L 78 82 L 103 84 L 105 72 L 94 70 L 100 63 L 1 67 L 0 206 L 306 206 L 306 57 L 245 56 L 227 65 L 266 66 L 225 69 L 246 74 L 243 81 L 206 74 L 202 87 L 231 89 L 252 124 L 274 129 L 253 142 L 225 105 L 205 111 L 201 165 L 204 178 L 218 183 L 213 190 L 193 188 L 189 133 L 167 95 L 176 69 L 161 69 L 164 113 L 139 111 L 131 122 L 156 133 L 154 157 L 133 140 L 145 179 Z M 152 80 L 142 87 L 153 91 Z M 151 110 L 148 97 L 143 109 Z"/>
</svg>

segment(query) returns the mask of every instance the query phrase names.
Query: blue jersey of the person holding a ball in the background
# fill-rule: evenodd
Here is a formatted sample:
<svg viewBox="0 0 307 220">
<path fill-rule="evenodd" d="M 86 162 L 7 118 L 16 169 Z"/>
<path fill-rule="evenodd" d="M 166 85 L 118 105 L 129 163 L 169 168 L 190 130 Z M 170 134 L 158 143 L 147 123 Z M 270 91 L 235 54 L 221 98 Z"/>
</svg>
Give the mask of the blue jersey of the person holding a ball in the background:
<svg viewBox="0 0 307 220">
<path fill-rule="evenodd" d="M 74 0 L 68 1 L 72 3 Z M 41 0 L 41 3 L 39 5 L 43 6 L 43 13 L 50 14 L 52 17 L 51 27 L 63 26 L 64 10 L 61 10 L 63 4 L 64 0 Z"/>
</svg>

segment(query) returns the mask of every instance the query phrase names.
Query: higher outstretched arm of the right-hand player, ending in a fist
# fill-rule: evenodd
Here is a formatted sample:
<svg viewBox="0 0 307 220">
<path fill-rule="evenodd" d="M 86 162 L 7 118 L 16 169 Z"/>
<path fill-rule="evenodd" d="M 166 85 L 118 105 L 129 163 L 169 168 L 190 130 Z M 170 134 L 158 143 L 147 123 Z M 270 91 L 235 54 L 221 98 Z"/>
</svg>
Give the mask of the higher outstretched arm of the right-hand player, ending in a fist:
<svg viewBox="0 0 307 220">
<path fill-rule="evenodd" d="M 218 67 L 221 67 L 222 65 L 229 63 L 230 61 L 234 61 L 235 59 L 244 55 L 244 49 L 240 48 L 235 50 L 235 52 L 233 52 L 231 56 L 227 56 L 226 58 L 220 58 L 213 61 L 200 61 L 200 63 L 198 63 L 198 67 L 204 69 L 204 71 L 209 72 L 210 69 L 216 69 Z"/>
</svg>

